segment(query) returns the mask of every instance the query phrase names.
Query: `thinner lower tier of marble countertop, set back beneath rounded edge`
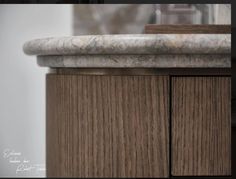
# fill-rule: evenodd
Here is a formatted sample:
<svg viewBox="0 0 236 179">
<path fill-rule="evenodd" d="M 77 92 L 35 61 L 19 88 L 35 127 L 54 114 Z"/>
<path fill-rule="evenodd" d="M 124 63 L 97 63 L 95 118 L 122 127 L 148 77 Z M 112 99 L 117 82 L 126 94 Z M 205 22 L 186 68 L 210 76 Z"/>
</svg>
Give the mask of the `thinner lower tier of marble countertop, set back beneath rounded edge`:
<svg viewBox="0 0 236 179">
<path fill-rule="evenodd" d="M 37 56 L 52 68 L 230 68 L 230 55 L 81 55 Z"/>
</svg>

